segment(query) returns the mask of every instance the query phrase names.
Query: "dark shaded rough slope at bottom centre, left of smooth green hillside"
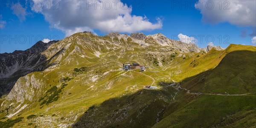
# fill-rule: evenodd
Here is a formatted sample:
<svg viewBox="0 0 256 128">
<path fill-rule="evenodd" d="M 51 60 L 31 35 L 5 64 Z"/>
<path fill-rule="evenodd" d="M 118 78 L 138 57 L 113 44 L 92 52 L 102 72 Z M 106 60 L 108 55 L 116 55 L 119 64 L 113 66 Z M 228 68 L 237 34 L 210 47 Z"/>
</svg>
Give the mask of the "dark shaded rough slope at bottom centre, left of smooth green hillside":
<svg viewBox="0 0 256 128">
<path fill-rule="evenodd" d="M 99 106 L 88 109 L 75 128 L 90 127 L 150 127 L 161 119 L 168 102 L 172 101 L 172 87 L 160 90 L 139 90 L 131 95 L 106 100 Z"/>
</svg>

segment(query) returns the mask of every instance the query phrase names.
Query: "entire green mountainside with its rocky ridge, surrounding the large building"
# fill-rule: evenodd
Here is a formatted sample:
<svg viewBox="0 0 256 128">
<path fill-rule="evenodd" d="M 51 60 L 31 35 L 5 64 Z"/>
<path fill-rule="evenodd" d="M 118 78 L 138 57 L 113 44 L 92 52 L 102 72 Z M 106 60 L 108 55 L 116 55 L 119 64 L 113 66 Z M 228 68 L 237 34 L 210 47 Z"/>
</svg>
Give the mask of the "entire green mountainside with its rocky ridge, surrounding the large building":
<svg viewBox="0 0 256 128">
<path fill-rule="evenodd" d="M 247 115 L 256 108 L 250 102 L 255 52 L 233 44 L 207 52 L 161 34 L 138 40 L 76 33 L 41 52 L 48 68 L 20 77 L 0 99 L 0 118 L 7 117 L 0 122 L 24 117 L 14 127 L 253 126 L 255 119 Z M 127 72 L 120 69 L 126 62 L 148 69 Z M 224 78 L 215 75 L 220 70 L 231 71 Z M 147 85 L 158 88 L 144 89 Z M 217 108 L 209 110 L 211 105 Z"/>
</svg>

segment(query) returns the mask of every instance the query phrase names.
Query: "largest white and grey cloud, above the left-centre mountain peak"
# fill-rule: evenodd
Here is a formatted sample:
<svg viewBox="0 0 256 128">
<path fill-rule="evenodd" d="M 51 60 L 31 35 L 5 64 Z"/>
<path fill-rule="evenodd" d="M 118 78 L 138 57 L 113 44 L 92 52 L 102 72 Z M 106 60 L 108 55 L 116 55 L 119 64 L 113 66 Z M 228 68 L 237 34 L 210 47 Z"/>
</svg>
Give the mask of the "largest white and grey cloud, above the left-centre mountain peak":
<svg viewBox="0 0 256 128">
<path fill-rule="evenodd" d="M 33 0 L 38 3 L 38 0 Z M 48 0 L 47 0 L 48 1 Z M 147 17 L 131 15 L 132 7 L 120 0 L 58 0 L 58 4 L 49 6 L 47 1 L 41 7 L 32 10 L 44 15 L 50 25 L 66 33 L 93 31 L 102 32 L 139 32 L 162 28 L 162 21 L 157 18 L 152 23 Z"/>
</svg>

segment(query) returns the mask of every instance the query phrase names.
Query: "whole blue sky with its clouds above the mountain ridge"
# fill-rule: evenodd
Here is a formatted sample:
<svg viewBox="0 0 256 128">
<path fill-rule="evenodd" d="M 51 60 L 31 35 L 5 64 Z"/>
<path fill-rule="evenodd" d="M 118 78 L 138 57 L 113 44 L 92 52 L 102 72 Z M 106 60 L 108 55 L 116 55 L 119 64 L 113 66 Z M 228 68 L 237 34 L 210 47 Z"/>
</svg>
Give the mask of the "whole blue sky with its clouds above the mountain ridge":
<svg viewBox="0 0 256 128">
<path fill-rule="evenodd" d="M 112 10 L 107 0 L 103 1 L 106 4 L 102 4 L 102 9 L 89 6 L 94 2 L 92 0 L 67 1 L 44 1 L 44 7 L 38 9 L 35 1 L 1 0 L 0 53 L 25 50 L 37 41 L 61 40 L 85 30 L 97 35 L 109 32 L 128 35 L 133 32 L 162 33 L 171 39 L 195 42 L 199 47 L 207 47 L 209 42 L 224 48 L 230 43 L 255 46 L 254 0 L 221 1 L 221 6 L 210 0 L 121 1 L 127 3 L 125 9 L 120 6 L 112 9 L 115 6 L 109 0 Z M 47 9 L 49 2 L 52 5 Z M 202 7 L 195 9 L 198 3 Z"/>
</svg>

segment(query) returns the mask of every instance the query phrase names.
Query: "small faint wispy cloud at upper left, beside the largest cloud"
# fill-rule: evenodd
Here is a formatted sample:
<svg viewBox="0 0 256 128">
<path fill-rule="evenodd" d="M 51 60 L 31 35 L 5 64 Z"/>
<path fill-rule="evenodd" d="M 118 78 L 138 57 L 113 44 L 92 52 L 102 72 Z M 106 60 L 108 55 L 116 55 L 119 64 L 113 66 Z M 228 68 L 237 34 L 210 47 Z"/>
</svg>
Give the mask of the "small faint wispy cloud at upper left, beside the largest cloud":
<svg viewBox="0 0 256 128">
<path fill-rule="evenodd" d="M 26 12 L 26 7 L 23 7 L 22 5 L 20 5 L 20 3 L 15 3 L 12 7 L 11 7 L 13 14 L 16 15 L 20 22 L 26 20 L 26 15 L 28 15 L 28 13 Z"/>
</svg>

